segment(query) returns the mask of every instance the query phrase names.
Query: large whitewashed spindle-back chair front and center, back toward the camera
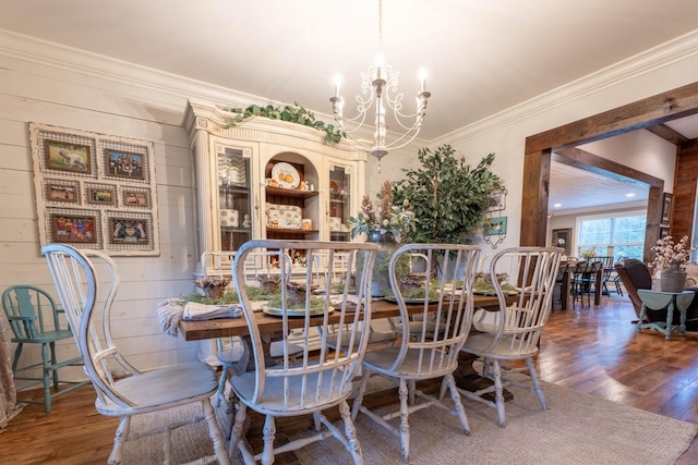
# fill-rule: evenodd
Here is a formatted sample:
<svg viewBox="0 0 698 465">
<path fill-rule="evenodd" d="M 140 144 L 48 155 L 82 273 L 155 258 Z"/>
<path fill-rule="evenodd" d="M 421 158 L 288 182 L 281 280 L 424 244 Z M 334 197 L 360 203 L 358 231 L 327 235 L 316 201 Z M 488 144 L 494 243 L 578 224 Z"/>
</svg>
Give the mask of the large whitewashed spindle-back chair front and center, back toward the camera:
<svg viewBox="0 0 698 465">
<path fill-rule="evenodd" d="M 348 242 L 314 241 L 275 241 L 258 240 L 244 243 L 237 252 L 233 264 L 233 282 L 241 297 L 243 316 L 249 327 L 254 358 L 254 370 L 234 376 L 230 380 L 232 391 L 239 401 L 234 416 L 234 425 L 230 439 L 230 452 L 240 451 L 245 463 L 260 461 L 263 464 L 274 462 L 274 456 L 281 452 L 293 451 L 312 442 L 334 436 L 351 454 L 354 464 L 363 464 L 363 453 L 351 420 L 347 399 L 352 393 L 354 378 L 365 353 L 369 328 L 371 325 L 370 285 L 373 265 L 377 253 L 375 244 Z M 280 297 L 270 301 L 263 311 L 264 318 L 278 319 L 278 338 L 282 342 L 282 354 L 278 359 L 265 357 L 263 339 L 257 326 L 257 314 L 248 295 L 245 285 L 244 261 L 251 254 L 267 252 L 281 262 L 282 257 L 298 253 L 304 266 L 278 269 Z M 293 254 L 290 254 L 293 252 Z M 328 279 L 333 273 L 332 259 L 335 253 L 347 253 L 347 266 L 360 259 L 364 266 L 356 277 L 356 295 L 349 280 L 345 280 L 342 290 L 337 293 L 328 287 L 324 292 L 313 293 L 317 254 L 329 254 L 330 259 L 324 264 L 322 271 Z M 326 334 L 330 326 L 337 325 L 340 338 L 345 334 L 349 344 L 344 351 L 328 346 Z M 309 344 L 310 329 L 321 327 L 318 347 Z M 292 328 L 303 328 L 304 341 L 297 344 L 303 348 L 301 354 L 291 356 L 284 350 Z M 267 334 L 268 335 L 268 334 Z M 354 342 L 358 341 L 358 342 Z M 298 362 L 294 363 L 294 359 Z M 344 420 L 344 433 L 335 427 L 322 411 L 337 406 Z M 248 409 L 265 416 L 263 428 L 264 449 L 254 453 L 248 446 L 244 424 Z M 275 444 L 276 418 L 312 414 L 316 431 L 312 436 L 294 439 L 286 444 Z M 323 428 L 324 426 L 324 428 Z M 349 457 L 347 457 L 349 462 Z"/>
</svg>

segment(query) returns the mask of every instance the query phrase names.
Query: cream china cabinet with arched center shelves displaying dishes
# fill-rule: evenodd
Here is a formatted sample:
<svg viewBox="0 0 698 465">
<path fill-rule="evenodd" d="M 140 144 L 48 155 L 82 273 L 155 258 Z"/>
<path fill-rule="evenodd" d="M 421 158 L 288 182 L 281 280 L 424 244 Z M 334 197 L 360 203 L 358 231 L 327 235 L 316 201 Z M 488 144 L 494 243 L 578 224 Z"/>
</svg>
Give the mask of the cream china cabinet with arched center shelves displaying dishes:
<svg viewBox="0 0 698 465">
<path fill-rule="evenodd" d="M 230 126 L 230 117 L 189 101 L 198 255 L 250 238 L 349 241 L 366 154 L 300 124 L 257 117 Z"/>
</svg>

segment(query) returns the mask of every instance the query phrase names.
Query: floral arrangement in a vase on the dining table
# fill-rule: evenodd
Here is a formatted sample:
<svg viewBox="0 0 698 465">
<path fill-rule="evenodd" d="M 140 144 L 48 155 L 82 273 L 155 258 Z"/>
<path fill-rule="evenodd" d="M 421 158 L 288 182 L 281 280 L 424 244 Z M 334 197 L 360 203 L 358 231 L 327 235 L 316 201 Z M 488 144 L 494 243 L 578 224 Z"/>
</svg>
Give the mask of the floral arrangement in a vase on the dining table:
<svg viewBox="0 0 698 465">
<path fill-rule="evenodd" d="M 361 201 L 361 211 L 356 217 L 349 218 L 349 232 L 351 237 L 359 234 L 366 235 L 366 242 L 378 245 L 378 254 L 373 268 L 371 281 L 371 296 L 383 297 L 390 290 L 388 266 L 390 258 L 399 246 L 401 236 L 414 230 L 417 219 L 409 199 L 400 205 L 393 204 L 393 187 L 390 181 L 385 181 L 377 194 L 377 205 L 374 206 L 368 195 Z M 357 270 L 361 270 L 362 264 L 357 264 Z"/>
</svg>

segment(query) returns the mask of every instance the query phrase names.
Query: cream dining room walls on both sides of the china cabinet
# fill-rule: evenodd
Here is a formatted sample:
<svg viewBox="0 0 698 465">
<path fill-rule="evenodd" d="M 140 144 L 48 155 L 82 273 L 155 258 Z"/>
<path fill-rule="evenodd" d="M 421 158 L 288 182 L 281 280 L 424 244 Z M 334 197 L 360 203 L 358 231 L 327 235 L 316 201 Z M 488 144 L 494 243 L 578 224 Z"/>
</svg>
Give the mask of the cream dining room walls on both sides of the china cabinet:
<svg viewBox="0 0 698 465">
<path fill-rule="evenodd" d="M 473 124 L 430 146 L 452 144 L 473 164 L 491 151 L 494 170 L 506 180 L 508 236 L 500 248 L 518 245 L 524 144 L 527 136 L 698 81 L 696 37 L 667 47 L 657 63 L 590 76 L 510 111 Z M 673 52 L 673 53 L 671 53 Z M 660 53 L 661 54 L 661 53 Z M 675 56 L 670 59 L 670 56 Z M 621 75 L 619 78 L 617 75 Z M 116 302 L 118 343 L 136 365 L 151 367 L 195 357 L 196 344 L 164 335 L 155 319 L 163 298 L 192 290 L 194 253 L 192 154 L 182 129 L 188 98 L 230 106 L 266 103 L 263 98 L 178 78 L 75 50 L 47 46 L 0 30 L 0 289 L 31 283 L 52 291 L 39 256 L 27 123 L 153 140 L 160 216 L 160 257 L 117 257 L 122 286 Z M 317 113 L 320 114 L 320 113 Z M 422 143 L 416 147 L 424 146 Z M 397 180 L 413 167 L 416 148 L 371 159 L 368 191 Z M 62 352 L 74 347 L 63 346 Z M 155 356 L 153 356 L 155 354 Z"/>
</svg>

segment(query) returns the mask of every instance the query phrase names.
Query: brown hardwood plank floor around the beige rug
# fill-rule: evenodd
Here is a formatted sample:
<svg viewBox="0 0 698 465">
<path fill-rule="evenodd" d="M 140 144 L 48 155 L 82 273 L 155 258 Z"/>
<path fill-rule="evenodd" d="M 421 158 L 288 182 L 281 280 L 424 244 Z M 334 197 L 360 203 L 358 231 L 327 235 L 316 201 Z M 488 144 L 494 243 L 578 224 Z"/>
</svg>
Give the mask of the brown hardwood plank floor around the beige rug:
<svg viewBox="0 0 698 465">
<path fill-rule="evenodd" d="M 599 307 L 556 310 L 541 342 L 544 381 L 648 412 L 698 423 L 698 333 L 665 341 L 637 333 L 627 297 L 603 297 Z M 22 393 L 21 393 L 22 395 Z M 117 420 L 94 409 L 85 387 L 55 400 L 53 412 L 27 406 L 0 435 L 5 464 L 106 463 Z M 698 462 L 698 441 L 677 462 Z"/>
</svg>

